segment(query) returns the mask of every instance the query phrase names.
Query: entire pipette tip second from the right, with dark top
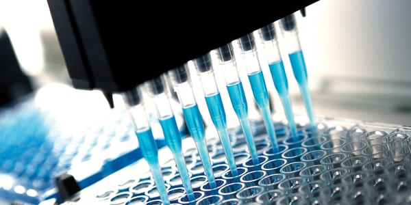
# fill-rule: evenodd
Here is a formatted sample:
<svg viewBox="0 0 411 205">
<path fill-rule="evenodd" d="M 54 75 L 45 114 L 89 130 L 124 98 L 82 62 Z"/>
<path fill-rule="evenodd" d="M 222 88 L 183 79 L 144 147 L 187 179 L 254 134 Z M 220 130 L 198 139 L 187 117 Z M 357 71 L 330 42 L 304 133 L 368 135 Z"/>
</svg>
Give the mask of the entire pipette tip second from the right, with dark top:
<svg viewBox="0 0 411 205">
<path fill-rule="evenodd" d="M 294 115 L 292 113 L 291 100 L 288 93 L 286 71 L 284 70 L 281 53 L 279 52 L 274 24 L 271 23 L 269 25 L 266 25 L 265 27 L 260 28 L 259 31 L 264 45 L 264 51 L 266 53 L 266 59 L 269 63 L 271 77 L 273 78 L 275 85 L 275 90 L 277 90 L 279 98 L 284 107 L 284 113 L 286 114 L 292 137 L 293 139 L 295 139 L 295 141 L 297 141 L 298 131 L 295 124 Z"/>
</svg>

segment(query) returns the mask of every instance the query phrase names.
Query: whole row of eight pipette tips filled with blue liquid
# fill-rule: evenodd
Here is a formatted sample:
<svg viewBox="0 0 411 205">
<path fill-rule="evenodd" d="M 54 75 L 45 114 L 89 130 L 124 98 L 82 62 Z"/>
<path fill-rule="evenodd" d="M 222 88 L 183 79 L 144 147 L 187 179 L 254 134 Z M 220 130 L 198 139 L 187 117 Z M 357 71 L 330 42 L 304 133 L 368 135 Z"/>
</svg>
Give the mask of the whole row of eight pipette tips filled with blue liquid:
<svg viewBox="0 0 411 205">
<path fill-rule="evenodd" d="M 295 17 L 292 15 L 282 18 L 280 20 L 284 32 L 296 33 Z M 279 48 L 277 45 L 277 38 L 275 34 L 275 29 L 273 25 L 267 25 L 260 29 L 261 37 L 265 45 L 271 44 L 277 51 L 275 51 L 274 57 L 275 61 L 269 61 L 269 68 L 271 71 L 271 76 L 275 83 L 275 88 L 282 100 L 282 105 L 284 107 L 284 113 L 288 120 L 288 126 L 290 128 L 290 135 L 292 139 L 298 139 L 297 127 L 294 122 L 292 115 L 292 108 L 290 97 L 288 94 L 288 82 L 284 71 L 284 64 L 282 63 L 281 56 L 279 55 Z M 297 34 L 295 34 L 297 35 Z M 298 38 L 296 38 L 298 40 Z M 278 151 L 277 136 L 275 134 L 275 127 L 273 123 L 273 118 L 271 115 L 271 109 L 269 107 L 269 96 L 268 90 L 266 88 L 266 83 L 264 81 L 264 76 L 260 67 L 260 62 L 257 57 L 257 51 L 255 42 L 253 39 L 253 34 L 249 33 L 246 36 L 238 39 L 240 44 L 242 59 L 245 62 L 247 68 L 247 74 L 249 77 L 249 83 L 251 85 L 251 90 L 253 92 L 254 100 L 256 100 L 257 105 L 262 113 L 264 124 L 266 126 L 266 131 L 269 134 L 269 139 L 271 140 L 271 145 L 274 152 Z M 297 42 L 299 46 L 299 42 Z M 267 59 L 273 59 L 269 57 L 271 53 L 268 53 L 269 49 L 266 47 Z M 236 66 L 236 59 L 234 57 L 234 51 L 232 49 L 231 43 L 221 46 L 216 49 L 216 53 L 219 55 L 218 59 L 220 61 L 222 69 L 227 69 L 225 72 L 225 81 L 227 83 L 227 90 L 229 92 L 229 98 L 232 102 L 232 106 L 236 111 L 238 120 L 240 121 L 240 126 L 247 140 L 247 145 L 249 146 L 249 152 L 253 163 L 258 163 L 258 154 L 256 153 L 256 146 L 253 143 L 253 133 L 251 132 L 251 125 L 248 118 L 248 108 L 247 100 L 245 98 L 244 89 L 238 76 L 238 70 Z M 295 74 L 295 78 L 299 83 L 301 94 L 303 95 L 304 102 L 306 103 L 306 109 L 308 111 L 310 124 L 312 126 L 312 131 L 316 131 L 316 123 L 314 121 L 314 110 L 312 108 L 312 102 L 309 95 L 308 83 L 307 83 L 307 71 L 306 65 L 303 59 L 303 54 L 301 47 L 297 49 L 294 53 L 289 53 L 290 61 L 292 63 L 292 69 Z M 227 118 L 225 116 L 225 110 L 223 106 L 223 100 L 219 92 L 219 88 L 214 79 L 214 72 L 212 68 L 212 57 L 210 53 L 203 55 L 197 59 L 193 60 L 195 62 L 195 70 L 199 76 L 199 79 L 203 88 L 203 96 L 206 100 L 208 111 L 212 118 L 212 122 L 216 127 L 217 133 L 221 139 L 223 149 L 225 152 L 225 157 L 227 163 L 229 164 L 232 176 L 236 176 L 238 171 L 236 169 L 236 163 L 234 160 L 234 154 L 232 152 L 232 144 L 229 139 L 227 132 Z M 182 182 L 184 188 L 186 189 L 186 195 L 189 201 L 195 201 L 195 196 L 192 193 L 192 187 L 190 184 L 190 178 L 188 175 L 188 169 L 184 161 L 184 154 L 182 152 L 182 136 L 179 133 L 177 123 L 175 122 L 173 109 L 170 105 L 170 94 L 167 88 L 167 83 L 164 78 L 169 77 L 171 79 L 171 84 L 173 90 L 177 93 L 177 98 L 182 105 L 184 119 L 186 121 L 188 131 L 190 135 L 195 140 L 197 149 L 201 156 L 201 161 L 203 163 L 206 176 L 208 177 L 208 183 L 210 187 L 216 187 L 216 182 L 214 180 L 214 174 L 212 171 L 212 165 L 210 163 L 210 156 L 208 156 L 207 143 L 205 139 L 205 128 L 203 119 L 201 118 L 201 113 L 195 96 L 192 91 L 190 82 L 190 73 L 187 64 L 179 66 L 174 70 L 170 70 L 168 73 L 153 79 L 145 83 L 145 88 L 151 94 L 153 102 L 158 112 L 158 117 L 160 119 L 160 124 L 162 125 L 162 130 L 164 133 L 164 138 L 166 140 L 167 146 L 173 153 L 178 171 L 182 177 Z M 153 138 L 153 135 L 142 135 L 141 128 L 145 128 L 145 131 L 151 132 L 148 120 L 146 122 L 142 121 L 141 118 L 147 117 L 146 113 L 140 113 L 139 109 L 134 109 L 135 107 L 142 107 L 142 100 L 138 98 L 136 100 L 136 95 L 140 95 L 141 87 L 137 87 L 136 90 L 132 91 L 132 94 L 125 95 L 125 101 L 129 107 L 129 113 L 133 118 L 134 126 L 136 127 L 136 135 L 142 148 L 143 156 L 149 162 L 151 173 L 154 176 L 155 184 L 160 192 L 160 197 L 163 204 L 169 204 L 168 194 L 164 188 L 164 180 L 162 180 L 162 173 L 160 171 L 160 165 L 158 163 L 158 148 L 155 143 L 152 143 L 153 139 L 142 139 L 142 138 Z M 131 100 L 130 100 L 131 99 Z M 137 111 L 137 112 L 136 112 Z M 140 109 L 141 111 L 141 109 Z M 140 119 L 137 120 L 136 118 Z M 164 188 L 164 189 L 163 189 Z"/>
</svg>

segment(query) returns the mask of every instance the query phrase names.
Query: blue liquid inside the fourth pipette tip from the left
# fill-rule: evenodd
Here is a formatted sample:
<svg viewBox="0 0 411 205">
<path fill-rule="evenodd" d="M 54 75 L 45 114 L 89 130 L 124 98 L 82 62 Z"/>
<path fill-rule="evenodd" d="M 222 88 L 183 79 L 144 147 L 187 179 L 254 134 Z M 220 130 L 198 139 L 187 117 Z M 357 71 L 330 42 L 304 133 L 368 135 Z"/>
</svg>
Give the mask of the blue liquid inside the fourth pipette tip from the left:
<svg viewBox="0 0 411 205">
<path fill-rule="evenodd" d="M 229 168 L 231 169 L 232 176 L 237 176 L 236 161 L 234 159 L 234 154 L 231 147 L 231 142 L 229 141 L 229 135 L 227 132 L 227 119 L 225 118 L 225 110 L 223 107 L 223 100 L 221 100 L 220 93 L 212 94 L 206 96 L 206 103 L 208 111 L 210 112 L 211 120 L 216 126 L 217 132 L 219 133 L 221 143 L 223 144 L 223 149 L 225 152 L 225 157 Z"/>
</svg>

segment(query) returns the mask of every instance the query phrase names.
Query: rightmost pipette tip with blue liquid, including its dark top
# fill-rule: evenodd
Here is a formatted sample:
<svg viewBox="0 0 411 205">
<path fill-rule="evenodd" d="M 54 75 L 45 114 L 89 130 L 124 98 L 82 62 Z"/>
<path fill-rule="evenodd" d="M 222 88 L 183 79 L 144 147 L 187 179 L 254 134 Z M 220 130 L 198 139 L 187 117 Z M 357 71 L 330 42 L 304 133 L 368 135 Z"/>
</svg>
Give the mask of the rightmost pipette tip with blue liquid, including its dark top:
<svg viewBox="0 0 411 205">
<path fill-rule="evenodd" d="M 282 29 L 284 38 L 288 41 L 288 57 L 290 57 L 292 72 L 297 80 L 304 104 L 306 105 L 310 126 L 312 127 L 313 133 L 317 133 L 314 108 L 312 107 L 310 89 L 308 88 L 306 61 L 304 61 L 303 51 L 301 50 L 294 14 L 280 19 L 279 26 Z"/>
</svg>

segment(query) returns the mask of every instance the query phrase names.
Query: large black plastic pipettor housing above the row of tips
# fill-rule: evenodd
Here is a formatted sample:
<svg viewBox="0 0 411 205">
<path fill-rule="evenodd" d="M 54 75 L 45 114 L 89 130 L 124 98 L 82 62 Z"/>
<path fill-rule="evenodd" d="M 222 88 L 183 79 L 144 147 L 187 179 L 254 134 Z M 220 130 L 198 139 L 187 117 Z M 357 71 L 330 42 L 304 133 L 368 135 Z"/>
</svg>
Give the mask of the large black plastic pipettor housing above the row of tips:
<svg viewBox="0 0 411 205">
<path fill-rule="evenodd" d="M 124 92 L 318 0 L 47 0 L 73 87 Z"/>
</svg>

